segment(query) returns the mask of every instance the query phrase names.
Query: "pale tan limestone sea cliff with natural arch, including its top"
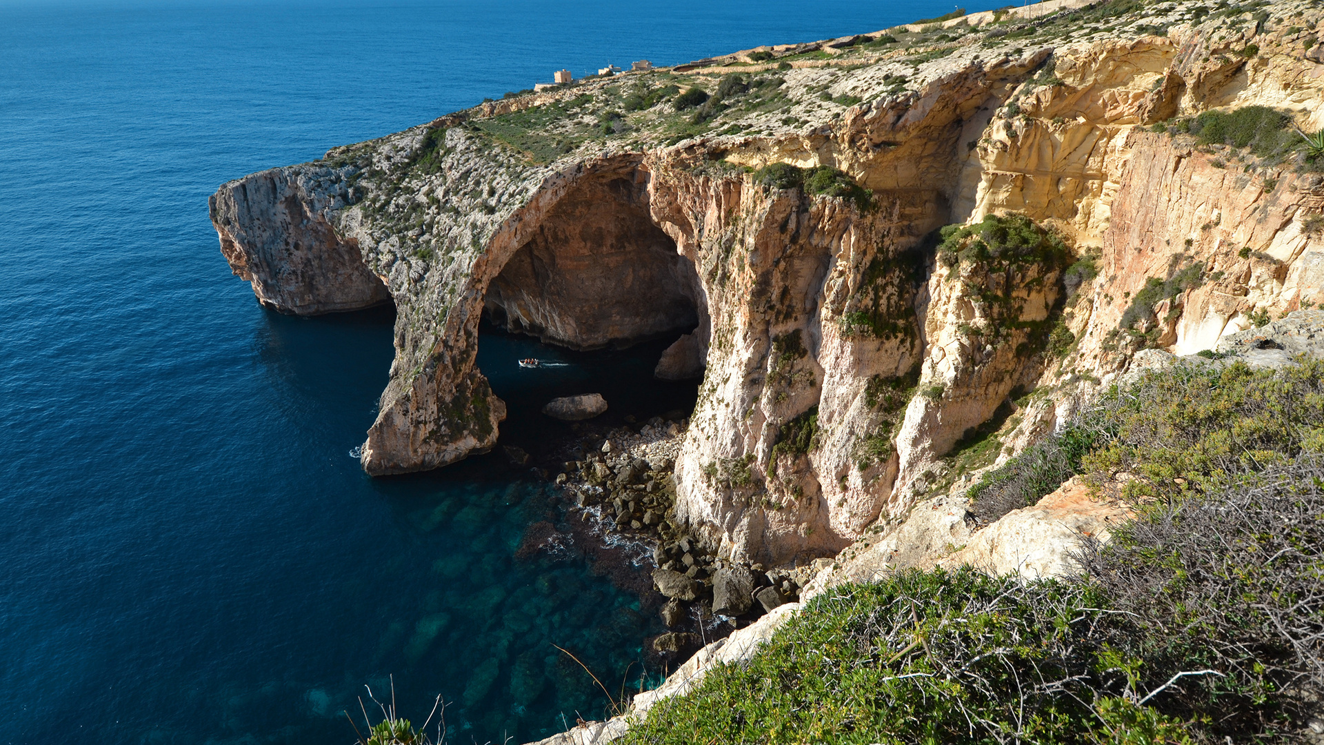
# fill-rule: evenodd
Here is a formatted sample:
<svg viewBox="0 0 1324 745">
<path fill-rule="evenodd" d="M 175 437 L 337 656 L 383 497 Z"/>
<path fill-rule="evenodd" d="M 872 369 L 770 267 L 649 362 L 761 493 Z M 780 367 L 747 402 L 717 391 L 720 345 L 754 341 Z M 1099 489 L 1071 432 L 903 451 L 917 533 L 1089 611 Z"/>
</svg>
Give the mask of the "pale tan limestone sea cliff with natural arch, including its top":
<svg viewBox="0 0 1324 745">
<path fill-rule="evenodd" d="M 369 473 L 495 443 L 483 312 L 580 349 L 686 331 L 658 370 L 703 375 L 677 520 L 732 557 L 834 554 L 1055 426 L 1139 349 L 1210 349 L 1324 300 L 1324 176 L 1290 139 L 1189 131 L 1249 106 L 1324 127 L 1319 12 L 1132 5 L 518 97 L 230 182 L 212 219 L 263 304 L 395 301 Z M 677 111 L 688 87 L 712 97 Z M 809 180 L 751 172 L 775 163 Z M 941 225 L 1008 213 L 1074 256 L 935 256 Z M 1094 273 L 1067 269 L 1080 257 Z"/>
</svg>

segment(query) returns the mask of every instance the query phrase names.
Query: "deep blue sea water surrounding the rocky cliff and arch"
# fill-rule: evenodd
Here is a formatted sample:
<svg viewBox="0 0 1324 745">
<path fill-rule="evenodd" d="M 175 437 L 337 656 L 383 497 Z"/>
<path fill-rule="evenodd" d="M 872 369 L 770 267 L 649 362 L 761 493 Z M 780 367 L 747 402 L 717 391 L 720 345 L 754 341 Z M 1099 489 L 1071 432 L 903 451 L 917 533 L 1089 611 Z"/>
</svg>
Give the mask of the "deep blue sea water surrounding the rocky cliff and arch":
<svg viewBox="0 0 1324 745">
<path fill-rule="evenodd" d="M 348 452 L 387 380 L 391 310 L 263 310 L 207 196 L 563 66 L 949 9 L 0 1 L 0 741 L 351 742 L 340 712 L 388 675 L 416 721 L 437 693 L 454 701 L 451 742 L 601 716 L 552 644 L 613 685 L 639 675 L 661 627 L 618 562 L 520 551 L 557 520 L 555 494 L 498 453 L 364 476 Z M 692 396 L 647 382 L 659 349 L 489 333 L 479 365 L 512 406 L 614 386 L 613 415 L 643 416 Z M 569 367 L 522 375 L 530 354 Z M 527 412 L 503 427 L 531 448 L 547 435 Z"/>
</svg>

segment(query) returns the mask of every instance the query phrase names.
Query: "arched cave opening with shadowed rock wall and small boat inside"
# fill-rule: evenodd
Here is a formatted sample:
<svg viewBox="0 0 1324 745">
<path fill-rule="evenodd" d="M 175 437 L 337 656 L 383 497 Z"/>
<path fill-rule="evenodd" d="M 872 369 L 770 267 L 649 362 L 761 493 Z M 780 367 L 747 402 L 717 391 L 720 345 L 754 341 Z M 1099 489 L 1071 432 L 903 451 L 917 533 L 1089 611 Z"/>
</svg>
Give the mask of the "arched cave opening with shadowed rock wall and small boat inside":
<svg viewBox="0 0 1324 745">
<path fill-rule="evenodd" d="M 694 411 L 708 339 L 694 264 L 653 223 L 636 172 L 583 179 L 491 280 L 478 367 L 506 400 L 500 445 L 538 459 L 576 437 Z M 538 367 L 520 367 L 535 358 Z M 583 422 L 542 414 L 551 399 L 601 394 Z"/>
</svg>

